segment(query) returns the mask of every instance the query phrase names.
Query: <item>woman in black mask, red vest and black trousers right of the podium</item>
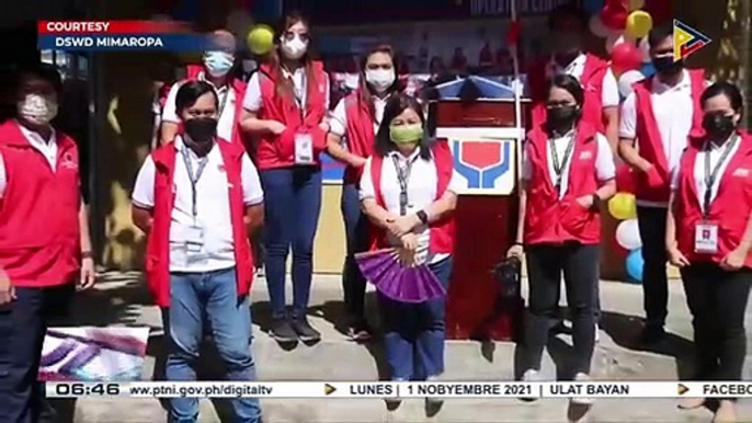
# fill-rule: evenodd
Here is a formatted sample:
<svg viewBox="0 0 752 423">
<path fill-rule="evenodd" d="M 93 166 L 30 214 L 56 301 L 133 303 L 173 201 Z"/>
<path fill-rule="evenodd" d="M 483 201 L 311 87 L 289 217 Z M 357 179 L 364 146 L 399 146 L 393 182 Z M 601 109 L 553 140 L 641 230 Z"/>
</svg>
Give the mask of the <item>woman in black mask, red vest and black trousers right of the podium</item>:
<svg viewBox="0 0 752 423">
<path fill-rule="evenodd" d="M 574 77 L 554 77 L 547 121 L 525 142 L 517 238 L 509 255 L 522 256 L 525 245 L 529 281 L 526 381 L 540 380 L 543 351 L 558 320 L 562 272 L 572 312 L 572 375 L 574 380 L 588 380 L 590 374 L 601 242 L 599 206 L 614 195 L 616 183 L 608 141 L 580 117 L 583 98 Z"/>
</svg>

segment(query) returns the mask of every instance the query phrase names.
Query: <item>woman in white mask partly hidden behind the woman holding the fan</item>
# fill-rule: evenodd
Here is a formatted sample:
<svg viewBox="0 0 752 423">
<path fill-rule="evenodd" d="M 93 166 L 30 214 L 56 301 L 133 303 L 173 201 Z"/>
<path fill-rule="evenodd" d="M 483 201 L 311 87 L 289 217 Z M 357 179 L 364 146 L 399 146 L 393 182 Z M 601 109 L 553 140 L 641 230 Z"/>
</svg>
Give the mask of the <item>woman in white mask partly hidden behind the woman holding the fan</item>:
<svg viewBox="0 0 752 423">
<path fill-rule="evenodd" d="M 371 338 L 363 309 L 366 281 L 354 261 L 355 253 L 368 250 L 368 221 L 361 213 L 357 190 L 363 167 L 373 151 L 384 106 L 394 93 L 400 91 L 397 69 L 390 46 L 374 47 L 361 59 L 360 88 L 340 101 L 329 122 L 327 150 L 346 165 L 342 185 L 342 216 L 347 256 L 342 271 L 342 287 L 350 319 L 350 336 L 355 341 Z"/>
</svg>

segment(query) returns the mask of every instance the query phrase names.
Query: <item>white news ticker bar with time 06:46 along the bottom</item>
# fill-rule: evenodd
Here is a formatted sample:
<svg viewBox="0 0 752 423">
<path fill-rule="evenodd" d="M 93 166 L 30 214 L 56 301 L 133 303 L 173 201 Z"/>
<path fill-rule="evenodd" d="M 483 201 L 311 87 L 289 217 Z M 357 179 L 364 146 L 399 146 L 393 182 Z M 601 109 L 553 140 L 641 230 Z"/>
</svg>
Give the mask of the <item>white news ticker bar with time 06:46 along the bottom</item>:
<svg viewBox="0 0 752 423">
<path fill-rule="evenodd" d="M 752 382 L 47 382 L 48 398 L 752 398 Z"/>
</svg>

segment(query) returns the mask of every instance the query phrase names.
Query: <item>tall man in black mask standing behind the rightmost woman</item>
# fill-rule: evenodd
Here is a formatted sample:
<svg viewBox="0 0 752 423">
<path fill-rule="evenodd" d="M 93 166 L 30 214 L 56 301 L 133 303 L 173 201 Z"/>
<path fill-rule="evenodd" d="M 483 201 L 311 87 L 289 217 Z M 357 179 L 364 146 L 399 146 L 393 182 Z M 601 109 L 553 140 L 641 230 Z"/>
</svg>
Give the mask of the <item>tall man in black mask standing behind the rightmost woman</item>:
<svg viewBox="0 0 752 423">
<path fill-rule="evenodd" d="M 622 106 L 619 156 L 637 174 L 636 197 L 642 239 L 645 342 L 660 341 L 668 315 L 664 248 L 671 172 L 679 165 L 692 132 L 702 132 L 702 70 L 685 70 L 673 56 L 673 25 L 653 28 L 648 41 L 657 73 L 635 84 Z"/>
</svg>

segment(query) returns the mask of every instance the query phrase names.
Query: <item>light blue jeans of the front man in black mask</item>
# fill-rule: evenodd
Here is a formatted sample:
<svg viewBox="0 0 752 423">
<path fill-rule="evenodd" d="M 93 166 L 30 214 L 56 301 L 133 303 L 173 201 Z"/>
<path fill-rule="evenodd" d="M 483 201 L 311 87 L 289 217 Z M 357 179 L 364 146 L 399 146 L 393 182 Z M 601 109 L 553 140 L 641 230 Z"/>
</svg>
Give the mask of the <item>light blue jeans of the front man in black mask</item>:
<svg viewBox="0 0 752 423">
<path fill-rule="evenodd" d="M 204 317 L 212 328 L 217 351 L 225 362 L 227 380 L 254 381 L 255 363 L 251 355 L 251 313 L 248 297 L 238 297 L 235 268 L 207 273 L 173 273 L 168 312 L 170 346 L 167 380 L 196 380 Z M 232 400 L 236 422 L 258 423 L 261 408 L 257 398 Z M 170 401 L 170 421 L 196 422 L 197 398 Z"/>
</svg>

